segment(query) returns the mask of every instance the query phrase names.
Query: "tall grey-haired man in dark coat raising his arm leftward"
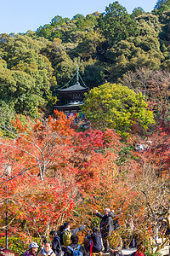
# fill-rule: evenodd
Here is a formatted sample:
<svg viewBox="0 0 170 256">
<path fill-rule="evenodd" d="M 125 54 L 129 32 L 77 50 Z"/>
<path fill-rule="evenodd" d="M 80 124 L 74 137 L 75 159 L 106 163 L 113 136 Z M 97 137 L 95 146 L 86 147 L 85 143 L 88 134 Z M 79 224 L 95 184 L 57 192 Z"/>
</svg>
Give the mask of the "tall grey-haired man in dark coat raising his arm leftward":
<svg viewBox="0 0 170 256">
<path fill-rule="evenodd" d="M 101 236 L 102 236 L 104 247 L 105 247 L 104 253 L 108 253 L 109 252 L 108 238 L 109 236 L 111 236 L 111 231 L 114 230 L 113 229 L 114 212 L 111 212 L 109 208 L 105 208 L 104 215 L 99 213 L 97 210 L 95 211 L 95 213 L 96 213 L 96 216 L 101 218 L 100 230 L 101 230 Z"/>
</svg>

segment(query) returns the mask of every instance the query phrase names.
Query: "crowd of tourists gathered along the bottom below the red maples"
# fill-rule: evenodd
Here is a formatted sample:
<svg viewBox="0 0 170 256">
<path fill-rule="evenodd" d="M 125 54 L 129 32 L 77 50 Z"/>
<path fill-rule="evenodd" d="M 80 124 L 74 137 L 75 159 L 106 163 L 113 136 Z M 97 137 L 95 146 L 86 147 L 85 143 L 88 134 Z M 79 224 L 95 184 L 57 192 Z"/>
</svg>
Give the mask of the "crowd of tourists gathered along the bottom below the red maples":
<svg viewBox="0 0 170 256">
<path fill-rule="evenodd" d="M 71 229 L 71 224 L 65 222 L 59 227 L 59 230 L 50 231 L 50 241 L 46 237 L 42 237 L 40 250 L 37 242 L 31 242 L 24 256 L 94 256 L 95 253 L 98 253 L 99 256 L 102 253 L 109 253 L 110 256 L 121 256 L 123 242 L 122 237 L 117 232 L 119 224 L 115 212 L 105 208 L 104 215 L 98 211 L 95 211 L 95 214 L 101 218 L 100 227 L 94 226 L 93 231 L 86 231 L 87 236 L 83 246 L 78 243 L 79 237 L 77 233 L 85 230 L 85 226 L 82 225 L 77 229 Z M 133 218 L 129 219 L 128 228 L 132 231 L 132 236 L 129 236 L 127 242 L 128 245 L 131 244 L 134 247 Z M 132 256 L 144 256 L 144 251 L 144 245 L 139 243 L 136 252 Z"/>
</svg>

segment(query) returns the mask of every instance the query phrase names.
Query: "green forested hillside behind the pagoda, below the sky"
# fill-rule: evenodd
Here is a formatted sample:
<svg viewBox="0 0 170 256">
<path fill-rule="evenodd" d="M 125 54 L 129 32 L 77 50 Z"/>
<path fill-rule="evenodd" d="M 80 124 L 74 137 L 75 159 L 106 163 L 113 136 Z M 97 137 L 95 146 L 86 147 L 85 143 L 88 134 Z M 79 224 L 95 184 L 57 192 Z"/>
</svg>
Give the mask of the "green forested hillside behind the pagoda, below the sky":
<svg viewBox="0 0 170 256">
<path fill-rule="evenodd" d="M 63 86 L 76 71 L 89 88 L 121 82 L 148 102 L 169 104 L 170 3 L 150 13 L 127 13 L 120 3 L 103 14 L 56 15 L 36 32 L 0 35 L 2 121 L 14 113 L 51 113 Z"/>
</svg>

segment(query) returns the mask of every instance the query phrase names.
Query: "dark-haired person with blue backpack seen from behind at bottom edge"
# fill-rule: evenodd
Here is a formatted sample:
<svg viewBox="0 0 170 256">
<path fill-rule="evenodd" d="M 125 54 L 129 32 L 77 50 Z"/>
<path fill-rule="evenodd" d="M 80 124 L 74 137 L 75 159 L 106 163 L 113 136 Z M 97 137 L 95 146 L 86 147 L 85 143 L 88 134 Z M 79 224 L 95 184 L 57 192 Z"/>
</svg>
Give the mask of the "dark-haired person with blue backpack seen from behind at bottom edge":
<svg viewBox="0 0 170 256">
<path fill-rule="evenodd" d="M 82 256 L 88 256 L 85 248 L 78 244 L 78 236 L 71 235 L 71 245 L 65 248 L 64 256 L 73 256 L 73 252 L 77 249 L 82 254 Z"/>
</svg>

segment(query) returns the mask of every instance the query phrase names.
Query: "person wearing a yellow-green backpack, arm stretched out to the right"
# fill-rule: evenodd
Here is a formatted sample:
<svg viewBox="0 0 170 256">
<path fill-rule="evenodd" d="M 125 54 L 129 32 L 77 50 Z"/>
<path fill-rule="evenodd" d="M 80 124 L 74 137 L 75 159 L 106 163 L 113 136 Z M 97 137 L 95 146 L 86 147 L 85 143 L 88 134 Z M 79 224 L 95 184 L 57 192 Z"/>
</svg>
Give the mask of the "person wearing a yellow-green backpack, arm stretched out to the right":
<svg viewBox="0 0 170 256">
<path fill-rule="evenodd" d="M 64 224 L 65 230 L 62 232 L 60 241 L 62 242 L 62 246 L 68 247 L 71 244 L 71 236 L 76 235 L 79 231 L 84 230 L 85 226 L 82 225 L 77 229 L 71 230 L 71 224 L 65 222 Z"/>
</svg>

